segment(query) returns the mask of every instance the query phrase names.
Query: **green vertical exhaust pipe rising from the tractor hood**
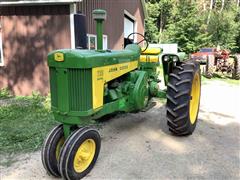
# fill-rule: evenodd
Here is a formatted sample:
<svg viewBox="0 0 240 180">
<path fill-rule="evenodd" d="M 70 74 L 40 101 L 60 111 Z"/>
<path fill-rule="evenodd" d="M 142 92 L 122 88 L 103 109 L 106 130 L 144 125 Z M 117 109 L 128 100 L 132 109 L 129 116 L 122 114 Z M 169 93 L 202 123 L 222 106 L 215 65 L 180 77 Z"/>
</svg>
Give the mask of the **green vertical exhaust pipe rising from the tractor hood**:
<svg viewBox="0 0 240 180">
<path fill-rule="evenodd" d="M 107 18 L 107 12 L 103 9 L 93 10 L 93 19 L 96 21 L 97 50 L 103 50 L 103 21 Z"/>
</svg>

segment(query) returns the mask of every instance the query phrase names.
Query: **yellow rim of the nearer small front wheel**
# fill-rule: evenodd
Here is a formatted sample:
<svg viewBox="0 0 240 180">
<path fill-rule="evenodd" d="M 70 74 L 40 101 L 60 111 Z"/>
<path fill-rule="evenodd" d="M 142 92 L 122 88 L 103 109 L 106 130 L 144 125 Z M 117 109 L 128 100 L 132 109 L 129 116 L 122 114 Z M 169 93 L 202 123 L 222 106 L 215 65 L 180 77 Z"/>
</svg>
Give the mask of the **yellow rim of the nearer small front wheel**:
<svg viewBox="0 0 240 180">
<path fill-rule="evenodd" d="M 93 160 L 95 151 L 96 144 L 93 139 L 87 139 L 81 144 L 73 161 L 73 167 L 77 173 L 81 173 L 88 168 Z"/>
</svg>

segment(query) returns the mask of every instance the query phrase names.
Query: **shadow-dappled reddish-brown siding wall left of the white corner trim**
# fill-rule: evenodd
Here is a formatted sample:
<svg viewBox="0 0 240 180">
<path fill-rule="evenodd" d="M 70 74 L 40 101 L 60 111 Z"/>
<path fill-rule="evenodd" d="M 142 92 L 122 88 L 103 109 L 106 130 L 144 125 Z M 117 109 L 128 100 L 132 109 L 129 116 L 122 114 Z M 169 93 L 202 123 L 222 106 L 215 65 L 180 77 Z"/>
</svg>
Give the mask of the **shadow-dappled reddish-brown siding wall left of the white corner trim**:
<svg viewBox="0 0 240 180">
<path fill-rule="evenodd" d="M 35 6 L 37 15 L 31 15 L 30 6 L 1 11 L 4 66 L 0 67 L 0 88 L 8 87 L 17 95 L 49 92 L 47 54 L 70 48 L 67 8 Z M 49 15 L 55 13 L 61 15 Z"/>
</svg>

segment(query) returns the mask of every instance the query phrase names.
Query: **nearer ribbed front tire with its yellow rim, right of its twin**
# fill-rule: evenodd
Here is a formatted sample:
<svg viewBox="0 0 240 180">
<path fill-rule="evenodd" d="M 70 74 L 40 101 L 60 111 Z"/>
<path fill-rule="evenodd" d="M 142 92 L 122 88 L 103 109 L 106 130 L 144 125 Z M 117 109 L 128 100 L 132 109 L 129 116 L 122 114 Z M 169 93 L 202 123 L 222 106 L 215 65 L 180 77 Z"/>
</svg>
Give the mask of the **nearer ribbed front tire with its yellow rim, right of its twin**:
<svg viewBox="0 0 240 180">
<path fill-rule="evenodd" d="M 98 131 L 82 128 L 64 143 L 60 153 L 59 171 L 64 179 L 78 180 L 94 167 L 101 148 Z"/>
</svg>

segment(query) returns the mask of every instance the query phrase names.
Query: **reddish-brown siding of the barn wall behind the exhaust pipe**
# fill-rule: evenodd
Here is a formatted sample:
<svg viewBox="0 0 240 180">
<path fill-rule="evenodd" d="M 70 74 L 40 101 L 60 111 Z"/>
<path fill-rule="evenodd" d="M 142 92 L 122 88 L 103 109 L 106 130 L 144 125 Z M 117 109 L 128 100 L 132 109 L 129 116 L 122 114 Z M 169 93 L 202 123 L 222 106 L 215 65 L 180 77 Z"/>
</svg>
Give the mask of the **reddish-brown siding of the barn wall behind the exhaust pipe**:
<svg viewBox="0 0 240 180">
<path fill-rule="evenodd" d="M 108 35 L 108 48 L 123 48 L 124 10 L 136 18 L 137 32 L 144 34 L 144 14 L 141 0 L 83 0 L 78 3 L 77 10 L 87 16 L 87 27 L 90 34 L 96 34 L 92 11 L 97 8 L 107 11 L 104 34 Z"/>
</svg>

